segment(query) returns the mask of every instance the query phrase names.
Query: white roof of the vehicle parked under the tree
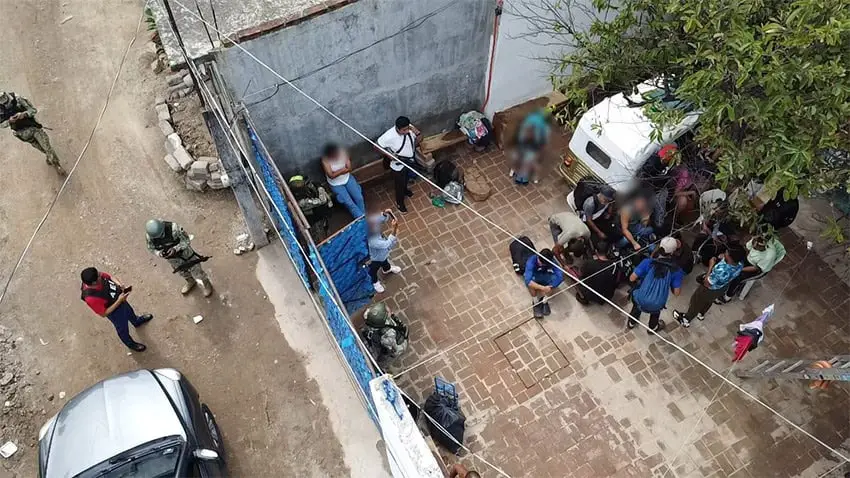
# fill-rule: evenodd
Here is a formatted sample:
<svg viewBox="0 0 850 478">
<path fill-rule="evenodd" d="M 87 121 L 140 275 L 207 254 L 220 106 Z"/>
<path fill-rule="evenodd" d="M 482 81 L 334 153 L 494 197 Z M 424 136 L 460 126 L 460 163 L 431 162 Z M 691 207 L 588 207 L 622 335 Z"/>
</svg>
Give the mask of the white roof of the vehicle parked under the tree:
<svg viewBox="0 0 850 478">
<path fill-rule="evenodd" d="M 641 83 L 637 87 L 638 93 L 629 99 L 643 101 L 641 95 L 657 88 L 652 81 Z M 637 171 L 663 143 L 693 129 L 698 121 L 698 113 L 687 114 L 681 123 L 662 131 L 662 142 L 652 141 L 650 133 L 655 127 L 652 121 L 646 117 L 642 107 L 630 106 L 626 96 L 619 93 L 590 108 L 582 115 L 578 127 L 625 170 Z"/>
</svg>

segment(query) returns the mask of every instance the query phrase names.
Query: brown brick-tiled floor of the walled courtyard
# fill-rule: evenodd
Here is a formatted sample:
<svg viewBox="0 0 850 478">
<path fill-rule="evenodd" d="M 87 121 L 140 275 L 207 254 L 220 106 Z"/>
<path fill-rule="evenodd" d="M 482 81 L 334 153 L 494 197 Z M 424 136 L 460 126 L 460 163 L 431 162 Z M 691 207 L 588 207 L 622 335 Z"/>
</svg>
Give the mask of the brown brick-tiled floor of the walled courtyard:
<svg viewBox="0 0 850 478">
<path fill-rule="evenodd" d="M 473 203 L 476 210 L 538 248 L 551 246 L 546 218 L 567 208 L 568 188 L 557 174 L 520 187 L 507 177 L 501 152 L 460 147 L 450 154 L 492 183 L 494 194 Z M 554 161 L 546 171 L 554 171 Z M 427 185 L 413 189 L 400 249 L 391 256 L 404 270 L 385 281 L 387 292 L 378 297 L 411 325 L 408 354 L 389 368 L 400 372 L 449 349 L 397 381 L 422 399 L 435 375 L 456 382 L 467 445 L 511 476 L 819 477 L 838 463 L 740 392 L 718 390 L 721 380 L 682 353 L 643 329 L 626 331 L 610 307 L 583 307 L 567 292 L 552 301 L 551 316 L 531 319 L 529 296 L 510 266 L 509 239 L 459 206 L 432 206 Z M 389 189 L 367 191 L 367 201 L 389 207 Z M 789 233 L 783 242 L 788 257 L 746 301 L 715 306 L 705 322 L 684 329 L 670 310 L 686 306 L 697 269 L 663 313 L 664 333 L 850 454 L 850 384 L 815 392 L 805 382 L 743 381 L 728 373 L 737 325 L 774 301 L 766 341 L 741 367 L 763 357 L 850 353 L 850 289 L 815 255 L 802 260 L 801 239 Z M 482 476 L 498 476 L 472 457 L 462 459 Z"/>
</svg>

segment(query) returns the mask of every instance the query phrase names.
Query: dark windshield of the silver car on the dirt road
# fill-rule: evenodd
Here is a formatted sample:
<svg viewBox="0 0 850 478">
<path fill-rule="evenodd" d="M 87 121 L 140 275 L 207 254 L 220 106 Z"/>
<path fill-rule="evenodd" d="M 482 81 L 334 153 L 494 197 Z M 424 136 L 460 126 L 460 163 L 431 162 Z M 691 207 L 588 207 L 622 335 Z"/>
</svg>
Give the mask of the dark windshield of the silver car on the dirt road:
<svg viewBox="0 0 850 478">
<path fill-rule="evenodd" d="M 174 477 L 182 448 L 179 437 L 161 438 L 115 455 L 76 478 Z"/>
</svg>

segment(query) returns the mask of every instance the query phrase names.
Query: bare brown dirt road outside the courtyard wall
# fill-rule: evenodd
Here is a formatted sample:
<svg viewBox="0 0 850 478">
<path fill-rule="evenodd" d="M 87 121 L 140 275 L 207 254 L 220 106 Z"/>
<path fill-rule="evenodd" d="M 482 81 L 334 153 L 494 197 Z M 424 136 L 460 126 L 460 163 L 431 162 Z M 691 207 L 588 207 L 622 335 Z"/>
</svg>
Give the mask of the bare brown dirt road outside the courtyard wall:
<svg viewBox="0 0 850 478">
<path fill-rule="evenodd" d="M 0 89 L 39 108 L 66 169 L 90 133 L 141 3 L 0 2 Z M 256 255 L 231 252 L 241 221 L 232 194 L 189 192 L 162 160 L 153 103 L 165 85 L 144 56 L 147 38 L 143 27 L 91 148 L 0 305 L 0 442 L 20 447 L 0 459 L 0 475 L 36 475 L 38 429 L 74 394 L 116 373 L 175 367 L 216 413 L 234 476 L 347 476 L 328 410 L 315 400 L 318 386 L 257 281 Z M 0 130 L 0 151 L 5 281 L 61 182 L 8 130 Z M 181 280 L 148 254 L 143 227 L 155 216 L 181 223 L 213 256 L 209 300 L 182 297 Z M 133 332 L 146 352 L 128 355 L 109 322 L 79 300 L 79 272 L 89 265 L 133 284 L 130 302 L 155 315 Z M 198 314 L 204 320 L 194 325 Z"/>
</svg>

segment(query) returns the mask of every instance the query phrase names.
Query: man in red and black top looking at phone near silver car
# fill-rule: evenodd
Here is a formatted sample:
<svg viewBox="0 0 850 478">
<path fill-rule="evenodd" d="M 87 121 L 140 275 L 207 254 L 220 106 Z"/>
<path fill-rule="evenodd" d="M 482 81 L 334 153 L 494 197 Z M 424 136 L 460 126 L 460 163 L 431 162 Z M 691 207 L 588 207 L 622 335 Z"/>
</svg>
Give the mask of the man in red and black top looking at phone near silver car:
<svg viewBox="0 0 850 478">
<path fill-rule="evenodd" d="M 106 317 L 115 326 L 118 337 L 130 350 L 144 352 L 147 347 L 130 337 L 130 327 L 140 327 L 153 318 L 151 314 L 141 317 L 130 307 L 127 296 L 132 287 L 124 287 L 118 279 L 112 278 L 106 272 L 98 272 L 94 267 L 87 267 L 80 273 L 83 283 L 80 286 L 80 298 L 95 314 Z"/>
</svg>

